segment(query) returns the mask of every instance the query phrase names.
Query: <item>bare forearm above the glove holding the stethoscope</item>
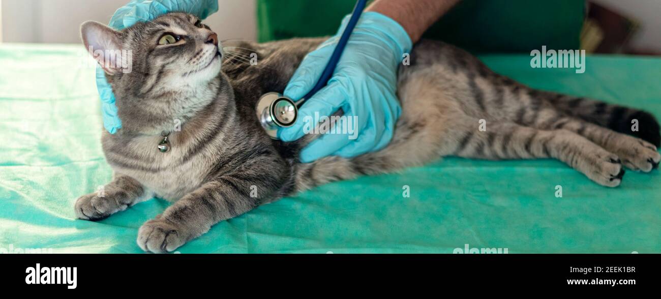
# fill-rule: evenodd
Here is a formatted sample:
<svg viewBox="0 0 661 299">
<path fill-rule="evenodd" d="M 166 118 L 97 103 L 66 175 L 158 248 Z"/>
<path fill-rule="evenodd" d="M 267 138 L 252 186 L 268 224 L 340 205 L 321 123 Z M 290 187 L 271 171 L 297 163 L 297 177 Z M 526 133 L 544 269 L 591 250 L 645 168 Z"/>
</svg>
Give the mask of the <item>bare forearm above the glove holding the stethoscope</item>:
<svg viewBox="0 0 661 299">
<path fill-rule="evenodd" d="M 375 11 L 399 22 L 413 42 L 460 0 L 376 0 L 367 11 Z"/>
</svg>

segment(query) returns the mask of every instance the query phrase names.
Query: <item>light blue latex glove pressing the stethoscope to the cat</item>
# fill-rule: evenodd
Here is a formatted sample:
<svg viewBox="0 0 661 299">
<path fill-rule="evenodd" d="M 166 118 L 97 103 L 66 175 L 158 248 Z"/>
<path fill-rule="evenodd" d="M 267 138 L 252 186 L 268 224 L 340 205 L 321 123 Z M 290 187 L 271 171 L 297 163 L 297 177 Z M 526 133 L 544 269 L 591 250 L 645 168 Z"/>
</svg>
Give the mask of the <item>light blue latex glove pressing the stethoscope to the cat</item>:
<svg viewBox="0 0 661 299">
<path fill-rule="evenodd" d="M 287 97 L 297 101 L 314 87 L 349 19 L 350 16 L 344 18 L 336 36 L 305 57 L 284 91 Z M 301 161 L 309 163 L 328 155 L 355 157 L 385 148 L 401 114 L 396 94 L 397 69 L 411 48 L 410 37 L 399 23 L 380 13 L 364 13 L 329 84 L 307 99 L 296 123 L 278 130 L 278 137 L 285 142 L 297 140 L 310 126 L 305 124 L 306 116 L 314 120 L 315 112 L 330 116 L 342 108 L 344 115 L 358 116 L 358 138 L 350 139 L 351 134 L 325 134 L 301 151 Z"/>
</svg>

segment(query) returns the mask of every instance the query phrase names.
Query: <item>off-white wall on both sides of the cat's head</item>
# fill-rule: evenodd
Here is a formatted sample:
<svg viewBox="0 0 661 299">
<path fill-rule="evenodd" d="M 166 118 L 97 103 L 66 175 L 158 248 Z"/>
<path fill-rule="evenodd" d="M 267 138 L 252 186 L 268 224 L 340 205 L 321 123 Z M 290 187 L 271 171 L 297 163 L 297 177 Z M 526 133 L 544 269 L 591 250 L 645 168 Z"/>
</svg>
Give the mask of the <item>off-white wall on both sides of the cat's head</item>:
<svg viewBox="0 0 661 299">
<path fill-rule="evenodd" d="M 79 43 L 79 26 L 93 20 L 107 24 L 129 0 L 0 0 L 3 42 Z M 206 24 L 221 40 L 256 39 L 252 0 L 219 0 L 219 11 Z"/>
</svg>

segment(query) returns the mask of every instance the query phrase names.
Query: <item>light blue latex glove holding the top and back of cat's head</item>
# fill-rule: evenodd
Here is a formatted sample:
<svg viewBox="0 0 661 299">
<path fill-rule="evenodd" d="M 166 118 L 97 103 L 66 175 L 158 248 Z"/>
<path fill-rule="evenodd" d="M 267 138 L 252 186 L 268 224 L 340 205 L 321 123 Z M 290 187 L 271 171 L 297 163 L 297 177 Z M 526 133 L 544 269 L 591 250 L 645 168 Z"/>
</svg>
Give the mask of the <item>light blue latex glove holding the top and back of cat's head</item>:
<svg viewBox="0 0 661 299">
<path fill-rule="evenodd" d="M 122 30 L 126 27 L 133 26 L 137 22 L 147 22 L 166 13 L 172 12 L 191 13 L 206 19 L 212 13 L 218 11 L 217 0 L 133 0 L 126 6 L 118 9 L 110 19 L 109 26 Z M 115 106 L 115 95 L 104 71 L 100 66 L 97 66 L 97 88 L 98 95 L 101 98 L 101 114 L 103 116 L 103 126 L 110 132 L 115 134 L 117 130 L 122 128 L 122 120 L 117 115 L 117 107 Z"/>
</svg>

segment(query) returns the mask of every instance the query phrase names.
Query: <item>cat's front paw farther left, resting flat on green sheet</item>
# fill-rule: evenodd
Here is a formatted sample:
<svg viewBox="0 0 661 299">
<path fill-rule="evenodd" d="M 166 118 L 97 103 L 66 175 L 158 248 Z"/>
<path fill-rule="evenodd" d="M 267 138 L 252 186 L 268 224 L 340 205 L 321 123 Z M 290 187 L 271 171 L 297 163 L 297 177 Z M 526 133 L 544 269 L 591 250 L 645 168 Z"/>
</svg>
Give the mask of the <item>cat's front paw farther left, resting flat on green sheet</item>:
<svg viewBox="0 0 661 299">
<path fill-rule="evenodd" d="M 126 210 L 128 205 L 120 205 L 118 202 L 112 196 L 98 196 L 97 193 L 83 195 L 76 200 L 76 218 L 91 221 L 103 220 L 120 210 Z"/>
</svg>

